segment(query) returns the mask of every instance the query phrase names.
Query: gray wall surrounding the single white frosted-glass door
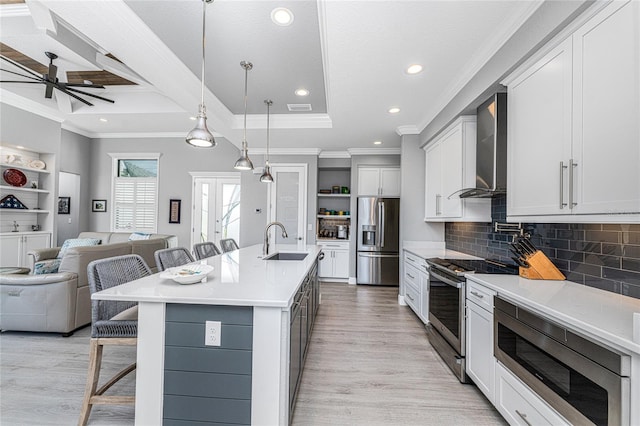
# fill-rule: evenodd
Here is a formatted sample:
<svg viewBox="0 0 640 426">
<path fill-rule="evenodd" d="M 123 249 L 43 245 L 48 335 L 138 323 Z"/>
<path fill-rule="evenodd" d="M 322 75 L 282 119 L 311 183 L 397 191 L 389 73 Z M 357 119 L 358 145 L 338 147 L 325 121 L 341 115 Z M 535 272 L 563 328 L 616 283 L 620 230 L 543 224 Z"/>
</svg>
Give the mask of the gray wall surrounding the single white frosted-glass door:
<svg viewBox="0 0 640 426">
<path fill-rule="evenodd" d="M 251 152 L 249 152 L 251 153 Z M 234 159 L 235 161 L 235 159 Z M 254 166 L 263 167 L 263 156 L 252 157 Z M 316 242 L 316 211 L 318 188 L 318 157 L 315 155 L 270 155 L 269 162 L 274 164 L 307 164 L 307 244 Z M 232 164 L 233 165 L 233 164 Z M 242 202 L 240 205 L 240 246 L 262 244 L 264 228 L 267 225 L 268 184 L 260 182 L 260 174 L 245 172 L 242 174 Z M 260 213 L 256 213 L 260 209 Z M 293 242 L 292 242 L 293 243 Z"/>
</svg>

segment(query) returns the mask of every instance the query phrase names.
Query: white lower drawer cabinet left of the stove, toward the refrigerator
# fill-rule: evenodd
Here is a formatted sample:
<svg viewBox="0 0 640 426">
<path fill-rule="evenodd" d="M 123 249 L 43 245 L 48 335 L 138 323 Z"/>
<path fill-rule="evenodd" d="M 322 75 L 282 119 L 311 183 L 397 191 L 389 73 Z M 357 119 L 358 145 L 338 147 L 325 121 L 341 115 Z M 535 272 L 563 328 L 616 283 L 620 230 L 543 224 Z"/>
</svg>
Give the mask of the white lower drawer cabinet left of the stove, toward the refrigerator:
<svg viewBox="0 0 640 426">
<path fill-rule="evenodd" d="M 418 317 L 429 322 L 429 274 L 424 259 L 404 252 L 403 262 L 404 300 Z"/>
</svg>

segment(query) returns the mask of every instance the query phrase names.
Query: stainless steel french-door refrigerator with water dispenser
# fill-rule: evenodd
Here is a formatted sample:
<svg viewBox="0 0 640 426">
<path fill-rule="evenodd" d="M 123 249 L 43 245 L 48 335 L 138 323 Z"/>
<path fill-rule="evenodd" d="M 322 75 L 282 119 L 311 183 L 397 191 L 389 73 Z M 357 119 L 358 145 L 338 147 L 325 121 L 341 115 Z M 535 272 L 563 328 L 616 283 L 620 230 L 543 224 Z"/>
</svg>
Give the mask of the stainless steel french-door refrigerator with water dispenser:
<svg viewBox="0 0 640 426">
<path fill-rule="evenodd" d="M 358 198 L 358 284 L 398 285 L 399 233 L 399 198 Z"/>
</svg>

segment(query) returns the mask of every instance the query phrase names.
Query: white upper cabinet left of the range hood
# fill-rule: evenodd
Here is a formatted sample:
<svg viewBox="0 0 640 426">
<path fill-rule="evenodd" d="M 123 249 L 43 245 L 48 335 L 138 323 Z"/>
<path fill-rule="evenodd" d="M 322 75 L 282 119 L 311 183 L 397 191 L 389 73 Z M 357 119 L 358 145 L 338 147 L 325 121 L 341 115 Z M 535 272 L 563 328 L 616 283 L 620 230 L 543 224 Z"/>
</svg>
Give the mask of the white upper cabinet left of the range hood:
<svg viewBox="0 0 640 426">
<path fill-rule="evenodd" d="M 425 147 L 425 221 L 491 222 L 491 200 L 461 199 L 476 187 L 476 118 L 462 116 Z"/>
</svg>

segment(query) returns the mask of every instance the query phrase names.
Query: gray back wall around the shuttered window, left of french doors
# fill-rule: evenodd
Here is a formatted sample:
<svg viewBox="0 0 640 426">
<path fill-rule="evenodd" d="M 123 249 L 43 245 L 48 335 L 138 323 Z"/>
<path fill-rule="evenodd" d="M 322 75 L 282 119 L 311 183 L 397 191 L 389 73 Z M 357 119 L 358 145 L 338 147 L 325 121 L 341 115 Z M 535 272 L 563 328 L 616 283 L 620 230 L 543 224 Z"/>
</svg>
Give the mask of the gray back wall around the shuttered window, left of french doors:
<svg viewBox="0 0 640 426">
<path fill-rule="evenodd" d="M 111 200 L 111 156 L 109 153 L 162 154 L 158 181 L 158 233 L 173 234 L 178 244 L 191 243 L 191 182 L 189 172 L 235 171 L 238 149 L 221 140 L 212 149 L 189 147 L 183 138 L 109 138 L 94 139 L 91 152 L 91 198 L 107 200 L 107 213 L 89 213 L 90 229 L 109 231 L 113 208 Z M 244 181 L 243 177 L 243 181 Z M 181 223 L 169 223 L 169 200 L 182 200 Z M 242 200 L 245 200 L 244 194 Z M 241 219 L 242 220 L 242 219 Z M 244 221 L 243 221 L 244 222 Z M 244 223 L 243 223 L 244 225 Z M 242 244 L 242 242 L 239 242 Z"/>
</svg>

